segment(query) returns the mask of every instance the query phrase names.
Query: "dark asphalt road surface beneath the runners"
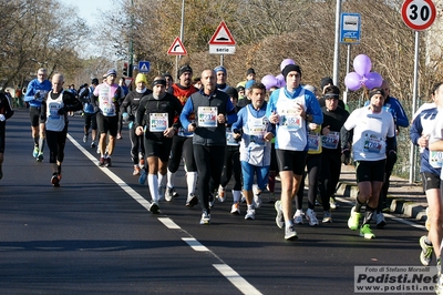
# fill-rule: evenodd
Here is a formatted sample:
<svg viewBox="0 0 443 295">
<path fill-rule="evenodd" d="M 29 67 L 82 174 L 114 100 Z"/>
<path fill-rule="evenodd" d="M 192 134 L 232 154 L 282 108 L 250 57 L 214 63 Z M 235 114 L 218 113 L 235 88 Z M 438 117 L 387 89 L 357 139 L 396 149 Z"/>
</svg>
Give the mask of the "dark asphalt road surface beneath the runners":
<svg viewBox="0 0 443 295">
<path fill-rule="evenodd" d="M 102 169 L 95 150 L 82 142 L 82 119 L 70 120 L 60 187 L 50 183 L 49 150 L 42 163 L 32 157 L 28 111 L 8 121 L 0 181 L 2 294 L 353 294 L 354 266 L 421 265 L 423 224 L 388 218 L 368 241 L 347 226 L 348 200 L 333 212 L 333 223 L 298 225 L 299 238 L 287 242 L 274 204 L 245 221 L 244 204 L 241 215 L 229 214 L 229 193 L 215 204 L 212 224 L 199 225 L 199 206 L 185 207 L 181 170 L 179 196 L 163 201 L 162 213 L 153 215 L 147 187 L 132 175 L 127 129 L 113 166 Z M 316 211 L 321 218 L 321 208 Z"/>
</svg>

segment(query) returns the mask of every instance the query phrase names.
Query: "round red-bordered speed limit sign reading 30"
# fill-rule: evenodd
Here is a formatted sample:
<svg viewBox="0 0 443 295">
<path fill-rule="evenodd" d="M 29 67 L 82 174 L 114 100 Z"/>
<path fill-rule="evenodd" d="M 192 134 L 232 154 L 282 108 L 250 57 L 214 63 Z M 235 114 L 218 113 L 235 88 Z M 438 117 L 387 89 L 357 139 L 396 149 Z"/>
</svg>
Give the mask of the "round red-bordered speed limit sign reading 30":
<svg viewBox="0 0 443 295">
<path fill-rule="evenodd" d="M 416 31 L 425 30 L 434 22 L 436 9 L 432 0 L 406 0 L 402 6 L 404 23 Z"/>
</svg>

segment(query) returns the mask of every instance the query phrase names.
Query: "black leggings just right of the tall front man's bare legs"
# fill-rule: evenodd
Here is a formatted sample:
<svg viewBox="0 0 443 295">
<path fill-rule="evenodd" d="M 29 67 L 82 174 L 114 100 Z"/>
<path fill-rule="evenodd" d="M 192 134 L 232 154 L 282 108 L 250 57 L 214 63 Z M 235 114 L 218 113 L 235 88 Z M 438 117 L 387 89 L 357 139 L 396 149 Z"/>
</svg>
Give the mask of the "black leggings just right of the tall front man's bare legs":
<svg viewBox="0 0 443 295">
<path fill-rule="evenodd" d="M 318 181 L 320 177 L 321 170 L 321 154 L 308 154 L 306 157 L 306 166 L 308 167 L 308 207 L 313 210 L 316 206 L 316 196 L 318 190 Z M 296 197 L 296 207 L 301 210 L 303 202 L 303 187 L 305 187 L 305 179 L 306 173 L 302 174 L 300 187 L 297 192 Z"/>
</svg>

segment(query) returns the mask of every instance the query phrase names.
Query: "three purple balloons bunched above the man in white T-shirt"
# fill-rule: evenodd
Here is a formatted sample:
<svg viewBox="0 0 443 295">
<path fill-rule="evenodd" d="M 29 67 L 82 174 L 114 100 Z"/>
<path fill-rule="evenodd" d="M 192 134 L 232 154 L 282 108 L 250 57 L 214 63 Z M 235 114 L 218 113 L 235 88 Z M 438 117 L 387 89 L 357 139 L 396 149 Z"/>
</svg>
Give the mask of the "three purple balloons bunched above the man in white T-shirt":
<svg viewBox="0 0 443 295">
<path fill-rule="evenodd" d="M 373 89 L 381 87 L 383 78 L 378 72 L 371 72 L 371 60 L 368 55 L 359 54 L 353 60 L 353 69 L 356 72 L 350 72 L 344 78 L 344 84 L 351 91 L 359 90 L 361 87 Z"/>
</svg>

